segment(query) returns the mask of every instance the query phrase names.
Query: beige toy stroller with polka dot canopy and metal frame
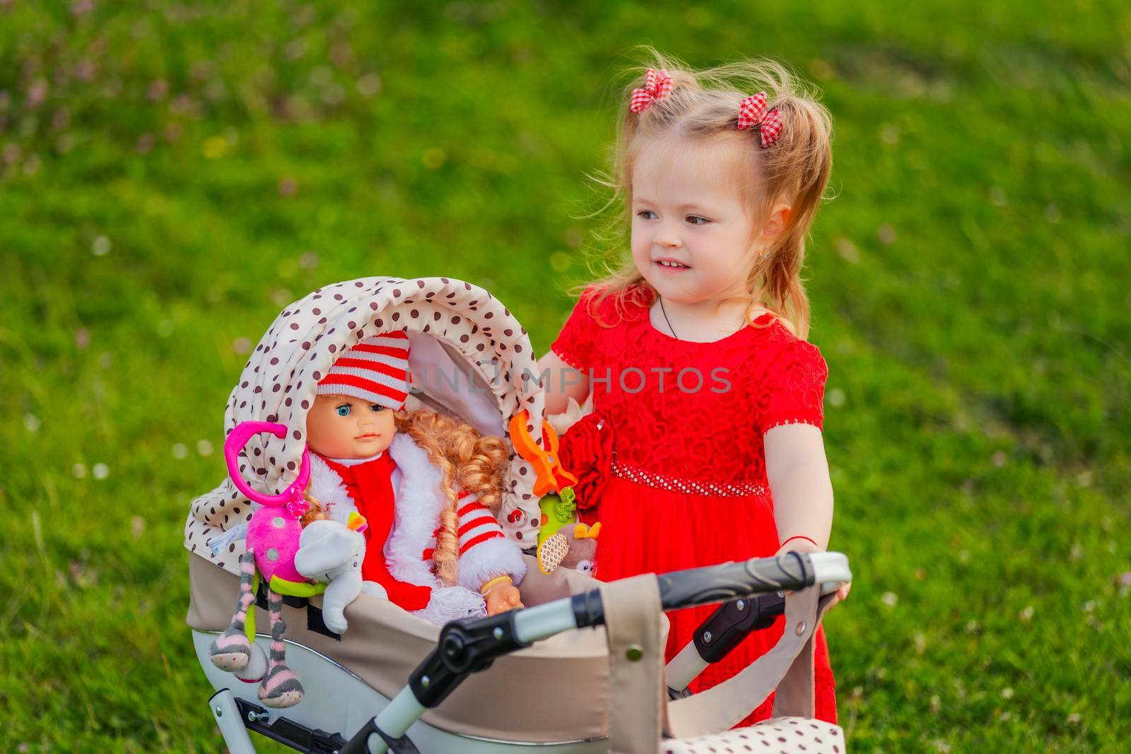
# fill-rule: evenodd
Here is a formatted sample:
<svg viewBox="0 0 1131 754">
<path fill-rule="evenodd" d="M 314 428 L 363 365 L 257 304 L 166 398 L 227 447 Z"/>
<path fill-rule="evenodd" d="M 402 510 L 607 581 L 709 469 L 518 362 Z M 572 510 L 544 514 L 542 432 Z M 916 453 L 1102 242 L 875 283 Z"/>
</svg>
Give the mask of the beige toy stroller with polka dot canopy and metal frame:
<svg viewBox="0 0 1131 754">
<path fill-rule="evenodd" d="M 285 428 L 283 436 L 250 437 L 239 471 L 252 486 L 270 495 L 295 482 L 307 410 L 334 354 L 395 329 L 407 331 L 412 343 L 409 408 L 428 407 L 499 436 L 507 436 L 511 419 L 525 411 L 526 433 L 543 447 L 546 437 L 535 432 L 543 423 L 535 355 L 526 331 L 498 300 L 451 278 L 362 278 L 320 288 L 285 309 L 244 367 L 228 399 L 226 432 L 243 422 Z M 543 452 L 535 461 L 545 458 Z M 545 469 L 536 466 L 511 451 L 499 515 L 506 536 L 524 548 L 535 546 L 542 515 L 535 488 L 539 478 L 545 482 Z M 441 631 L 362 593 L 345 609 L 349 629 L 344 634 L 327 627 L 321 595 L 283 596 L 278 609 L 290 627 L 282 641 L 307 693 L 294 707 L 268 710 L 253 684 L 210 661 L 217 634 L 228 626 L 244 554 L 243 541 L 225 541 L 224 532 L 250 518 L 253 508 L 228 478 L 193 501 L 185 525 L 191 553 L 188 623 L 217 692 L 209 707 L 232 752 L 254 751 L 248 730 L 304 752 L 500 752 L 530 745 L 560 752 L 654 752 L 663 730 L 671 736 L 665 749 L 694 751 L 680 746 L 694 747 L 697 736 L 725 731 L 775 687 L 776 716 L 812 717 L 811 638 L 826 604 L 819 592 L 821 584 L 851 579 L 846 558 L 834 553 L 608 584 L 570 569 L 545 574 L 528 556 L 530 567 L 519 584 L 525 609 L 457 621 Z M 209 546 L 217 541 L 223 546 Z M 783 600 L 782 590 L 796 591 Z M 257 596 L 258 608 L 267 607 L 264 597 Z M 760 614 L 782 612 L 783 601 L 787 626 L 794 630 L 735 678 L 666 702 L 668 686 L 685 687 L 714 656 L 689 645 L 673 660 L 665 682 L 662 610 L 724 600 L 711 619 L 737 610 L 745 623 L 716 627 L 719 639 L 711 649 L 733 645 L 742 631 L 757 627 L 765 617 Z M 250 615 L 256 612 L 249 609 Z M 260 615 L 266 625 L 267 614 Z M 758 619 L 750 621 L 753 616 Z M 590 626 L 597 630 L 570 631 Z M 266 645 L 270 639 L 257 635 L 256 642 Z M 476 673 L 487 667 L 489 673 Z M 834 751 L 822 749 L 826 743 L 844 751 L 835 726 L 808 719 L 804 726 L 795 719 L 777 722 L 804 729 L 804 738 L 794 733 L 789 740 L 805 743 L 806 751 Z M 770 729 L 744 730 L 758 728 L 763 728 L 761 735 Z"/>
</svg>

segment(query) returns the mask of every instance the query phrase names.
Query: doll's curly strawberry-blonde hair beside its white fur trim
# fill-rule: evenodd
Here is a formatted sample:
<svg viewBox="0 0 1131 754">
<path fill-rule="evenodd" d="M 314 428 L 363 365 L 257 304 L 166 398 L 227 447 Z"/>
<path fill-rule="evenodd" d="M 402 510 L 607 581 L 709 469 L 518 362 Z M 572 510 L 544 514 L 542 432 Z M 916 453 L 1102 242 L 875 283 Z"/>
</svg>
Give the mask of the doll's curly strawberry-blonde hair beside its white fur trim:
<svg viewBox="0 0 1131 754">
<path fill-rule="evenodd" d="M 440 512 L 440 530 L 435 537 L 432 562 L 435 573 L 447 586 L 456 583 L 459 561 L 459 514 L 456 491 L 469 492 L 493 514 L 502 503 L 502 480 L 509 452 L 507 442 L 494 435 L 481 435 L 470 424 L 428 408 L 397 411 L 394 415 L 397 432 L 407 432 L 435 466 L 443 482 L 441 492 L 448 505 Z M 303 491 L 310 510 L 301 519 L 302 526 L 329 518 L 322 504 Z"/>
</svg>

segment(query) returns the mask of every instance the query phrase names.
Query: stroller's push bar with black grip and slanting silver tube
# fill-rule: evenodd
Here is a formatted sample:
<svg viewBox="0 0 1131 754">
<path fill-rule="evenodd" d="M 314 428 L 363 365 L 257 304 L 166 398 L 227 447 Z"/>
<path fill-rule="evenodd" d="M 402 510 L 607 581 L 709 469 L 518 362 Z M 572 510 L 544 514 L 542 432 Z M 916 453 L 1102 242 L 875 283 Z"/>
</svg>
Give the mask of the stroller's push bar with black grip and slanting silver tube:
<svg viewBox="0 0 1131 754">
<path fill-rule="evenodd" d="M 785 553 L 722 565 L 674 571 L 656 577 L 664 610 L 795 591 L 817 582 L 852 580 L 848 558 L 840 553 Z M 437 648 L 409 676 L 408 685 L 342 748 L 342 754 L 415 751 L 404 738 L 428 708 L 442 702 L 468 675 L 491 666 L 494 658 L 528 647 L 539 639 L 572 629 L 604 624 L 601 592 L 589 590 L 544 605 L 487 618 L 448 623 Z"/>
</svg>

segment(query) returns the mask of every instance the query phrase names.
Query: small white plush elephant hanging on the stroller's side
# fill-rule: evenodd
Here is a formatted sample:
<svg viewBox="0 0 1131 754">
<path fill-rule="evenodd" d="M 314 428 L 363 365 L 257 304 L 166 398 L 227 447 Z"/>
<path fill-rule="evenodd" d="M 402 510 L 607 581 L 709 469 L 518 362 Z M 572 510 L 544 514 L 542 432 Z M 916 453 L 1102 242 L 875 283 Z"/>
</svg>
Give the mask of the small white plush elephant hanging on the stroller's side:
<svg viewBox="0 0 1131 754">
<path fill-rule="evenodd" d="M 386 597 L 385 589 L 372 581 L 362 583 L 361 563 L 365 557 L 365 537 L 339 521 L 311 521 L 299 538 L 294 567 L 308 579 L 327 584 L 322 593 L 322 621 L 334 633 L 346 631 L 346 605 L 362 591 Z"/>
</svg>

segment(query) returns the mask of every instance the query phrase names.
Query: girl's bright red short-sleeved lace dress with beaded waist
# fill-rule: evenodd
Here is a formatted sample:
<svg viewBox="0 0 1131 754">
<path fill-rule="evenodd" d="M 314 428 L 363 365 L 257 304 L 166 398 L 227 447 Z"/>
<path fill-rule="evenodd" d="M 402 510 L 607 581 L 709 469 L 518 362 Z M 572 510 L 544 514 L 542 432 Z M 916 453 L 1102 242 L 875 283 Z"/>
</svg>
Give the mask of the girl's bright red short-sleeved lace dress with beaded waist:
<svg viewBox="0 0 1131 754">
<path fill-rule="evenodd" d="M 676 340 L 648 321 L 651 294 L 633 294 L 622 313 L 612 297 L 601 302 L 598 322 L 587 291 L 552 346 L 590 375 L 594 413 L 564 434 L 560 454 L 580 473 L 582 519 L 602 521 L 595 574 L 612 581 L 774 555 L 762 434 L 786 423 L 821 426 L 824 359 L 769 315 L 716 343 Z M 713 610 L 668 614 L 667 659 Z M 782 623 L 751 633 L 691 688 L 752 662 L 777 642 Z M 836 722 L 823 630 L 814 655 L 817 717 Z M 772 701 L 740 725 L 768 718 Z"/>
</svg>

